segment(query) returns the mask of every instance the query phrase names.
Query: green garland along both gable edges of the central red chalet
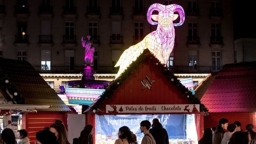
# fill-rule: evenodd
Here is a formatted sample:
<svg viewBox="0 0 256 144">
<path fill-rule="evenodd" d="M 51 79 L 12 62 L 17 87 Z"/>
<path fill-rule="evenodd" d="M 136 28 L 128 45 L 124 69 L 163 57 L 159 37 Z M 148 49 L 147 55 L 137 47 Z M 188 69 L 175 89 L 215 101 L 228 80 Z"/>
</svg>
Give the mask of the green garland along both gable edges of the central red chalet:
<svg viewBox="0 0 256 144">
<path fill-rule="evenodd" d="M 180 83 L 180 80 L 177 79 L 177 76 L 174 76 L 173 73 L 171 73 L 161 62 L 156 59 L 148 49 L 144 50 L 140 56 L 137 58 L 136 61 L 133 61 L 132 64 L 116 79 L 114 80 L 106 89 L 106 91 L 100 96 L 100 98 L 97 100 L 97 102 L 94 104 L 92 109 L 97 109 L 99 108 L 100 105 L 103 104 L 104 100 L 109 99 L 115 92 L 115 90 L 120 86 L 126 78 L 128 78 L 131 73 L 133 72 L 134 69 L 137 69 L 138 66 L 146 60 L 146 57 L 148 57 L 153 63 L 158 63 L 156 65 L 162 72 L 163 74 L 171 81 L 173 78 L 172 83 L 179 89 L 183 94 L 188 97 L 188 100 L 192 102 L 192 104 L 199 104 L 200 105 L 200 111 L 201 112 L 206 112 L 205 115 L 209 115 L 208 109 L 201 103 L 201 101 L 196 98 L 192 92 L 190 92 L 185 86 L 183 86 Z"/>
</svg>

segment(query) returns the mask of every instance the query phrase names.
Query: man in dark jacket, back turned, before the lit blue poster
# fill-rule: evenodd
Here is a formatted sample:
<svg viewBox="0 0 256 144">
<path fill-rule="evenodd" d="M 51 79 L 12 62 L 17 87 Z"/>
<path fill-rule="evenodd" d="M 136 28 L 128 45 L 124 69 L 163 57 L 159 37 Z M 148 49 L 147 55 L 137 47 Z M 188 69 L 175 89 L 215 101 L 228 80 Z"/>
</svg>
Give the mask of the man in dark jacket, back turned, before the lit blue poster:
<svg viewBox="0 0 256 144">
<path fill-rule="evenodd" d="M 156 144 L 169 144 L 167 131 L 157 118 L 153 119 L 152 129 L 149 129 L 149 133 L 154 137 Z"/>
</svg>

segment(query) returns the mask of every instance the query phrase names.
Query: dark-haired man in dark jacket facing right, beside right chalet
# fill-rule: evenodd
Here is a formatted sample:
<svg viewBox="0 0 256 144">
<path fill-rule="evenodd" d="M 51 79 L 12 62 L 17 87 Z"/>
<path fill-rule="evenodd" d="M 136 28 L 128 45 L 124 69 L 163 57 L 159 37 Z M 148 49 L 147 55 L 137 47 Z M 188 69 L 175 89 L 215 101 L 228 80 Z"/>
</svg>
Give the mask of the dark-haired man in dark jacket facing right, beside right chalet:
<svg viewBox="0 0 256 144">
<path fill-rule="evenodd" d="M 220 144 L 225 133 L 224 129 L 228 127 L 228 120 L 226 118 L 221 118 L 219 120 L 219 125 L 212 135 L 212 144 Z"/>
</svg>

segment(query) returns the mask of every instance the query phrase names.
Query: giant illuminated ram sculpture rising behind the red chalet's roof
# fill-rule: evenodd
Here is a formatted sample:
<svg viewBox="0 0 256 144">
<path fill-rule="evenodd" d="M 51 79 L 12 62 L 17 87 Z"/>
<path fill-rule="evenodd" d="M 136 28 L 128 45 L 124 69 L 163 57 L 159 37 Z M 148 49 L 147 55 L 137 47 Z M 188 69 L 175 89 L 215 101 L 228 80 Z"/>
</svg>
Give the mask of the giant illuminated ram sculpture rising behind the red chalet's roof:
<svg viewBox="0 0 256 144">
<path fill-rule="evenodd" d="M 158 11 L 158 15 L 152 15 L 153 11 Z M 174 14 L 174 12 L 179 12 L 180 14 L 179 23 L 172 23 L 172 21 L 176 20 L 179 16 L 178 14 Z M 148 49 L 164 65 L 169 59 L 175 37 L 173 26 L 180 26 L 185 20 L 183 8 L 178 4 L 152 4 L 148 9 L 147 18 L 150 24 L 158 24 L 156 31 L 151 32 L 145 36 L 141 42 L 129 47 L 123 52 L 115 65 L 115 67 L 120 66 L 116 78 L 120 76 L 132 61 L 135 61 L 145 49 Z M 156 22 L 152 21 L 151 18 Z"/>
</svg>

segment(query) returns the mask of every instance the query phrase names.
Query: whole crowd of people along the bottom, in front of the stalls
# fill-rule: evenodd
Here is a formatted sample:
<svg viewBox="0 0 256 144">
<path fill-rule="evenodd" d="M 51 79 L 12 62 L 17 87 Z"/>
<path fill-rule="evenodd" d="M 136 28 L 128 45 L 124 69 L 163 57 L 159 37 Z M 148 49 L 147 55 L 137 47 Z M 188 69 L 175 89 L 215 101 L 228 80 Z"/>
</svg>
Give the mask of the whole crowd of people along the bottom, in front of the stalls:
<svg viewBox="0 0 256 144">
<path fill-rule="evenodd" d="M 140 122 L 140 132 L 144 134 L 141 144 L 169 144 L 166 129 L 157 118 L 152 125 L 148 120 Z M 150 129 L 150 127 L 152 127 Z M 256 144 L 256 132 L 252 124 L 246 124 L 246 132 L 241 129 L 241 123 L 235 121 L 228 124 L 226 118 L 219 120 L 217 127 L 206 128 L 203 137 L 198 144 Z M 226 132 L 228 130 L 228 132 Z M 61 120 L 56 120 L 50 127 L 36 132 L 36 144 L 70 144 L 67 138 L 67 130 Z M 19 131 L 20 141 L 17 143 L 12 129 L 3 130 L 1 144 L 30 144 L 28 132 L 25 129 Z M 73 144 L 93 144 L 93 126 L 87 124 Z M 118 139 L 115 144 L 138 144 L 136 135 L 127 126 L 122 126 L 118 131 Z"/>
</svg>

